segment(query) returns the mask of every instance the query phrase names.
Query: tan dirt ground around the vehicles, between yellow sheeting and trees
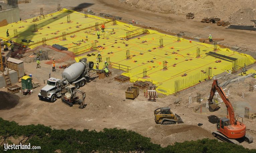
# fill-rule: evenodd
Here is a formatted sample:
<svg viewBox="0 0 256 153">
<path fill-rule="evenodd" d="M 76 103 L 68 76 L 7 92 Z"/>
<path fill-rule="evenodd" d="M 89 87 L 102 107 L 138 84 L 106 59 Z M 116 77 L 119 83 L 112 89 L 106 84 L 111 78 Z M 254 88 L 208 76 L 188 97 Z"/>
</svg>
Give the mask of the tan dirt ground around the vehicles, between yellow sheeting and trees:
<svg viewBox="0 0 256 153">
<path fill-rule="evenodd" d="M 49 55 L 55 55 L 55 60 L 69 59 L 70 55 L 56 52 L 50 48 L 47 50 Z M 61 51 L 63 52 L 63 51 Z M 31 51 L 24 54 L 24 60 L 30 61 L 27 57 Z M 23 60 L 23 59 L 21 59 Z M 207 101 L 211 89 L 211 82 L 198 90 L 190 92 L 180 97 L 173 95 L 166 96 L 159 94 L 156 102 L 147 101 L 144 97 L 144 90 L 140 90 L 140 95 L 132 100 L 125 98 L 125 90 L 132 85 L 130 82 L 120 83 L 114 81 L 114 77 L 122 72 L 111 69 L 113 75 L 109 78 L 98 79 L 95 72 L 91 73 L 91 79 L 80 89 L 86 92 L 86 103 L 84 109 L 79 109 L 79 105 L 69 107 L 57 99 L 55 102 L 40 101 L 38 92 L 45 84 L 51 73 L 51 77 L 61 77 L 63 69 L 58 68 L 63 64 L 74 61 L 72 58 L 65 63 L 56 63 L 56 72 L 51 72 L 50 60 L 41 61 L 41 68 L 36 69 L 35 62 L 24 62 L 25 73 L 32 74 L 33 82 L 40 82 L 40 87 L 33 89 L 31 95 L 20 96 L 19 103 L 11 109 L 0 110 L 0 117 L 16 121 L 21 125 L 26 124 L 44 124 L 56 129 L 90 129 L 100 131 L 103 128 L 126 128 L 136 131 L 144 136 L 150 137 L 152 142 L 167 146 L 174 142 L 183 142 L 197 140 L 202 138 L 211 138 L 211 132 L 215 131 L 216 117 L 223 117 L 226 114 L 226 107 L 221 103 L 221 109 L 210 113 L 206 108 L 200 112 L 200 105 Z M 221 75 L 220 75 L 221 76 Z M 219 77 L 219 76 L 217 76 Z M 234 77 L 234 76 L 230 76 Z M 228 77 L 226 77 L 227 79 Z M 230 89 L 230 101 L 235 107 L 235 112 L 244 115 L 244 107 L 250 107 L 251 111 L 256 110 L 254 105 L 255 94 L 249 92 L 249 81 L 254 78 L 247 78 L 245 81 L 230 83 L 226 88 Z M 224 80 L 221 78 L 220 82 Z M 21 85 L 20 83 L 17 83 Z M 239 89 L 239 90 L 238 90 Z M 6 91 L 6 88 L 0 89 Z M 245 97 L 241 98 L 242 91 Z M 202 94 L 202 103 L 196 102 L 197 92 Z M 188 103 L 188 96 L 192 96 L 192 103 Z M 176 101 L 176 102 L 175 102 Z M 169 106 L 174 113 L 181 116 L 183 124 L 159 125 L 154 122 L 153 111 L 159 107 Z M 256 111 L 255 111 L 256 112 Z M 256 137 L 255 120 L 245 119 L 247 133 Z M 199 127 L 197 124 L 202 123 Z M 241 145 L 247 148 L 256 148 L 255 142 L 247 144 L 242 142 Z"/>
</svg>

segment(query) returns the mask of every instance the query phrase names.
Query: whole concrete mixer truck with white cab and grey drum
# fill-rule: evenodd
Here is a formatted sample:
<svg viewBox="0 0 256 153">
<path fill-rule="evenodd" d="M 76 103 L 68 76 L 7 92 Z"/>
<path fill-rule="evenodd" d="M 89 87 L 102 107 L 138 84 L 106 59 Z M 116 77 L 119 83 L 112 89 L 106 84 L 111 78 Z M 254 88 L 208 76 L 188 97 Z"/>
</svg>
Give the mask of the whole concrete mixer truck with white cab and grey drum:
<svg viewBox="0 0 256 153">
<path fill-rule="evenodd" d="M 66 68 L 62 73 L 61 79 L 50 77 L 49 75 L 47 84 L 38 93 L 39 99 L 54 102 L 56 97 L 61 96 L 61 91 L 67 85 L 75 85 L 77 89 L 84 86 L 86 78 L 90 77 L 90 70 L 94 70 L 93 66 L 93 62 L 87 62 L 87 58 L 83 58 L 78 63 Z"/>
</svg>

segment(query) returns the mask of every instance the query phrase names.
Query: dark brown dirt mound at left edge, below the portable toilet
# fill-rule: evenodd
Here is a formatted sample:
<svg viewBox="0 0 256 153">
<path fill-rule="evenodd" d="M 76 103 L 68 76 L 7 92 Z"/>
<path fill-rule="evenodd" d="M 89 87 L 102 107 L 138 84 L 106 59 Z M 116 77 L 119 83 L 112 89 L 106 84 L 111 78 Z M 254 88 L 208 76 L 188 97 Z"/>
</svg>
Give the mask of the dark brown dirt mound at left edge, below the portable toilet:
<svg viewBox="0 0 256 153">
<path fill-rule="evenodd" d="M 11 109 L 19 103 L 20 97 L 16 94 L 0 91 L 0 110 Z"/>
</svg>

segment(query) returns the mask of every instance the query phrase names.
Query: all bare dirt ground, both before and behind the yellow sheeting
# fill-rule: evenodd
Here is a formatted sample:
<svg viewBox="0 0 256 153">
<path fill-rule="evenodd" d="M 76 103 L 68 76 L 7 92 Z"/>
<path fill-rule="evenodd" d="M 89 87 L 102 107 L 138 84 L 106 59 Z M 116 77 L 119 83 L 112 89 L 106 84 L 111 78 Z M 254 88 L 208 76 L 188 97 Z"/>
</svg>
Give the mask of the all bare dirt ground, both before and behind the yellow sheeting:
<svg viewBox="0 0 256 153">
<path fill-rule="evenodd" d="M 61 4 L 62 8 L 79 10 L 83 8 L 90 8 L 96 13 L 104 12 L 116 16 L 123 17 L 124 20 L 130 21 L 132 19 L 147 26 L 154 26 L 160 29 L 169 30 L 172 32 L 185 32 L 185 35 L 207 37 L 209 33 L 213 36 L 225 38 L 225 43 L 230 46 L 238 45 L 244 48 L 254 49 L 255 32 L 227 30 L 225 27 L 218 27 L 216 25 L 201 23 L 201 19 L 186 20 L 184 16 L 166 13 L 152 13 L 150 11 L 143 11 L 122 3 L 118 0 L 82 0 L 73 1 L 70 4 L 68 0 L 62 1 L 39 1 L 33 0 L 29 4 L 20 4 L 21 18 L 32 18 L 39 14 L 39 8 L 43 7 L 45 14 L 52 13 L 57 8 L 57 3 Z M 34 4 L 34 5 L 33 5 Z M 34 6 L 31 9 L 31 6 Z M 30 8 L 30 9 L 28 9 Z M 234 37 L 234 34 L 236 37 Z M 247 39 L 244 39 L 247 38 Z M 11 109 L 0 110 L 0 117 L 16 121 L 21 125 L 26 124 L 44 124 L 52 126 L 57 129 L 89 129 L 102 130 L 103 128 L 126 128 L 128 130 L 136 131 L 144 136 L 150 137 L 153 143 L 166 146 L 174 142 L 183 142 L 190 140 L 197 140 L 203 138 L 211 138 L 211 132 L 216 130 L 216 117 L 223 117 L 226 115 L 225 104 L 221 103 L 221 109 L 216 112 L 209 112 L 204 107 L 203 112 L 200 113 L 200 105 L 207 101 L 207 96 L 211 90 L 211 83 L 206 84 L 198 90 L 190 92 L 180 97 L 173 95 L 165 96 L 160 94 L 156 102 L 147 101 L 144 97 L 144 91 L 140 90 L 140 95 L 134 99 L 125 99 L 125 90 L 132 85 L 130 82 L 120 83 L 114 81 L 114 77 L 120 75 L 122 72 L 111 69 L 113 75 L 109 78 L 98 79 L 97 75 L 92 72 L 91 79 L 84 87 L 80 88 L 86 92 L 86 103 L 88 104 L 84 109 L 79 109 L 79 105 L 69 107 L 57 99 L 54 103 L 40 101 L 38 99 L 38 92 L 44 86 L 44 81 L 47 80 L 49 73 L 52 77 L 61 77 L 63 69 L 58 67 L 73 62 L 73 58 L 68 54 L 46 49 L 49 58 L 54 57 L 56 61 L 56 72 L 51 72 L 51 61 L 41 61 L 41 68 L 36 69 L 36 63 L 31 62 L 28 56 L 31 51 L 24 54 L 24 68 L 26 74 L 32 74 L 34 82 L 40 82 L 40 87 L 33 89 L 31 95 L 20 96 L 19 103 Z M 67 53 L 65 51 L 62 51 Z M 63 60 L 65 59 L 65 61 Z M 221 76 L 221 75 L 220 75 Z M 232 77 L 232 76 L 230 76 Z M 216 77 L 218 78 L 218 76 Z M 226 77 L 227 79 L 227 77 Z M 93 80 L 96 80 L 93 81 Z M 254 78 L 247 78 L 245 81 L 230 83 L 226 88 L 230 89 L 230 101 L 235 107 L 235 112 L 244 116 L 244 107 L 250 107 L 250 111 L 256 112 L 254 92 L 249 92 L 249 81 L 255 81 Z M 221 78 L 220 82 L 224 82 Z M 20 83 L 17 83 L 21 85 Z M 6 88 L 0 89 L 7 91 Z M 197 92 L 202 94 L 202 103 L 196 102 Z M 245 97 L 242 98 L 242 92 Z M 192 96 L 192 103 L 188 103 L 188 96 Z M 179 101 L 174 103 L 175 101 Z M 159 125 L 154 121 L 153 111 L 159 107 L 169 106 L 174 113 L 181 116 L 184 121 L 183 124 L 175 125 Z M 256 122 L 255 119 L 243 119 L 247 126 L 247 133 L 256 138 Z M 198 126 L 202 123 L 202 126 Z M 246 148 L 256 149 L 256 142 L 247 144 L 242 142 Z"/>
</svg>

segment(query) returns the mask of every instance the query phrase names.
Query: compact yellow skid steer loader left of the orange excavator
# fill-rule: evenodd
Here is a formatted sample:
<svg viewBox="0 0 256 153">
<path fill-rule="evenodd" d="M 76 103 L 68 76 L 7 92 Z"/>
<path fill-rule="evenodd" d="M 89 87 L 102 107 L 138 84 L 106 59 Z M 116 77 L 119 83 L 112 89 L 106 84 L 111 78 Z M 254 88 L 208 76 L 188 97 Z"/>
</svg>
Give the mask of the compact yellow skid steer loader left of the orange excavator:
<svg viewBox="0 0 256 153">
<path fill-rule="evenodd" d="M 161 107 L 161 108 L 157 108 L 154 111 L 154 115 L 155 115 L 155 122 L 157 124 L 176 124 L 176 123 L 183 123 L 183 121 L 181 120 L 180 116 L 178 116 L 177 114 L 173 114 L 173 112 L 171 112 L 169 107 Z"/>
</svg>

